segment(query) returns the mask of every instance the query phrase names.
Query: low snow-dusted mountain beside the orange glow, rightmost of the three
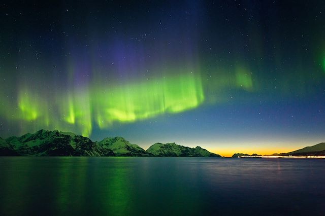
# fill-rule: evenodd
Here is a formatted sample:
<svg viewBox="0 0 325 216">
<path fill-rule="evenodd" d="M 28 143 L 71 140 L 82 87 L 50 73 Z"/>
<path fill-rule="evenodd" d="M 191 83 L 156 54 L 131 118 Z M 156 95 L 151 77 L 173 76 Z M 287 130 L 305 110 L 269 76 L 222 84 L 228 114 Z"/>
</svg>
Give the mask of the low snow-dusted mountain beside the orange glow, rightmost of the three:
<svg viewBox="0 0 325 216">
<path fill-rule="evenodd" d="M 147 152 L 158 157 L 221 157 L 211 153 L 201 147 L 189 148 L 172 143 L 157 142 L 152 145 Z"/>
</svg>

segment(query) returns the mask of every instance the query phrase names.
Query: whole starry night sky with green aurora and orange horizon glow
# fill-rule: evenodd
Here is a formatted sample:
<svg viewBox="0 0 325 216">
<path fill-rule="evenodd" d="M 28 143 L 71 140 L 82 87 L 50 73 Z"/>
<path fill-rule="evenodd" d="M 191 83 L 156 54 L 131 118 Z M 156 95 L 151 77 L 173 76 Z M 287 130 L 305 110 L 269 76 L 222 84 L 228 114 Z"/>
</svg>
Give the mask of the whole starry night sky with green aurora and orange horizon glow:
<svg viewBox="0 0 325 216">
<path fill-rule="evenodd" d="M 2 1 L 0 136 L 235 152 L 325 141 L 323 1 Z"/>
</svg>

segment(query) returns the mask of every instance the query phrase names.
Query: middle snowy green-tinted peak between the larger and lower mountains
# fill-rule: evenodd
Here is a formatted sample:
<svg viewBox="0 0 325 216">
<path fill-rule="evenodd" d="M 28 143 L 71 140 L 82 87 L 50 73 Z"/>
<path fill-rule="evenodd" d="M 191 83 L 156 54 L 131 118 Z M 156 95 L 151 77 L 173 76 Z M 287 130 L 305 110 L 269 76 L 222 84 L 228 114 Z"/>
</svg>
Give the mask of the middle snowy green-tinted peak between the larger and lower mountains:
<svg viewBox="0 0 325 216">
<path fill-rule="evenodd" d="M 105 138 L 98 145 L 114 152 L 116 156 L 153 156 L 138 145 L 131 144 L 123 137 Z"/>
</svg>

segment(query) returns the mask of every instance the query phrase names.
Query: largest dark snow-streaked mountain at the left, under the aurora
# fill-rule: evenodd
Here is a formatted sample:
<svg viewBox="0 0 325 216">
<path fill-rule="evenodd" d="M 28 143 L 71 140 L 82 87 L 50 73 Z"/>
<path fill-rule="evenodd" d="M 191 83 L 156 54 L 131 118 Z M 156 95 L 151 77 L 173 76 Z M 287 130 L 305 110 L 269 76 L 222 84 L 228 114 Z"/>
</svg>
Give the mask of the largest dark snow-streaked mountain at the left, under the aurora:
<svg viewBox="0 0 325 216">
<path fill-rule="evenodd" d="M 24 156 L 114 156 L 111 150 L 99 147 L 87 137 L 57 130 L 39 130 L 6 141 Z"/>
</svg>

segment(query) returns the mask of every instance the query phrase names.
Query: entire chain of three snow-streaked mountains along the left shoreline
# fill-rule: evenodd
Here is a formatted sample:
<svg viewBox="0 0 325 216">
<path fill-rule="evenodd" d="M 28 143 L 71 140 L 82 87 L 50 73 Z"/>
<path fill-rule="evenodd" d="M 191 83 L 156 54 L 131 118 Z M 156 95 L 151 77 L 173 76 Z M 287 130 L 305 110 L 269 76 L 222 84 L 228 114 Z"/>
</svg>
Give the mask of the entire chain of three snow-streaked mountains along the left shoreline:
<svg viewBox="0 0 325 216">
<path fill-rule="evenodd" d="M 0 156 L 134 156 L 134 157 L 221 157 L 201 147 L 155 143 L 147 151 L 123 137 L 91 141 L 69 132 L 39 130 L 20 137 L 0 137 Z"/>
</svg>

